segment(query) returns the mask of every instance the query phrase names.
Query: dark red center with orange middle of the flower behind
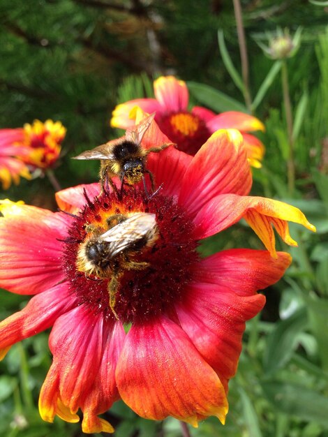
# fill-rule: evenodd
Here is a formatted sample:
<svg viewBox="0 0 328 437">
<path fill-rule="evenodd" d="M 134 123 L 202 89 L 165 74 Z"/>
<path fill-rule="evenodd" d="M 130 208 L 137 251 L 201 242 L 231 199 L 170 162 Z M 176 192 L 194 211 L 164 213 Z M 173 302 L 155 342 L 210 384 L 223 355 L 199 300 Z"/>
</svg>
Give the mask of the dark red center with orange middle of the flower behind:
<svg viewBox="0 0 328 437">
<path fill-rule="evenodd" d="M 158 126 L 171 141 L 177 143 L 179 150 L 190 155 L 195 155 L 211 136 L 204 121 L 191 112 L 166 115 L 158 120 Z"/>
</svg>

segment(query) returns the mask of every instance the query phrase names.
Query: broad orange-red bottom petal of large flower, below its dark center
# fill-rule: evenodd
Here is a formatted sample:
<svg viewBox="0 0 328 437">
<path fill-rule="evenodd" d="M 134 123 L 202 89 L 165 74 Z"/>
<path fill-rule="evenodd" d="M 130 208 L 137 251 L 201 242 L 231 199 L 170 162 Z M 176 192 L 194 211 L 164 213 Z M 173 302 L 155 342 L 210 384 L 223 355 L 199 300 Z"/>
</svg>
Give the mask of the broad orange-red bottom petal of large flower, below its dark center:
<svg viewBox="0 0 328 437">
<path fill-rule="evenodd" d="M 171 415 L 194 427 L 210 415 L 225 421 L 221 381 L 181 327 L 164 316 L 131 327 L 116 377 L 121 398 L 142 417 Z"/>
</svg>

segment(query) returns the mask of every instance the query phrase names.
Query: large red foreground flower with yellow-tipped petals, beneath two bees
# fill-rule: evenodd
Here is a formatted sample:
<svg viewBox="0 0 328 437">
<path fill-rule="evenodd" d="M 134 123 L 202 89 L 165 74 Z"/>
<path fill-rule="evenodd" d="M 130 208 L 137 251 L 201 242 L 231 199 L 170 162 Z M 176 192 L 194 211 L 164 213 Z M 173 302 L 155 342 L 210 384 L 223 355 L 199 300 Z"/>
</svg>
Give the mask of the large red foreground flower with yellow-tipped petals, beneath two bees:
<svg viewBox="0 0 328 437">
<path fill-rule="evenodd" d="M 142 146 L 165 142 L 153 121 Z M 1 355 L 53 326 L 53 363 L 39 403 L 49 422 L 55 415 L 78 422 L 80 408 L 84 432 L 112 432 L 98 415 L 121 398 L 147 419 L 171 415 L 196 427 L 215 415 L 224 423 L 245 321 L 265 302 L 256 291 L 290 265 L 288 253 L 275 251 L 271 225 L 289 244 L 296 243 L 287 220 L 314 229 L 299 209 L 248 196 L 251 171 L 238 131 L 211 135 L 195 156 L 170 147 L 147 164 L 161 186 L 151 198 L 142 184 L 123 195 L 100 194 L 91 184 L 57 193 L 62 212 L 1 202 L 0 286 L 35 295 L 0 323 Z M 101 234 L 113 217 L 139 212 L 156 216 L 158 235 L 135 251 L 133 260 L 146 268 L 121 270 L 115 318 L 110 274 L 95 277 L 77 258 L 94 230 Z M 200 240 L 243 217 L 272 256 L 230 249 L 200 258 Z"/>
</svg>

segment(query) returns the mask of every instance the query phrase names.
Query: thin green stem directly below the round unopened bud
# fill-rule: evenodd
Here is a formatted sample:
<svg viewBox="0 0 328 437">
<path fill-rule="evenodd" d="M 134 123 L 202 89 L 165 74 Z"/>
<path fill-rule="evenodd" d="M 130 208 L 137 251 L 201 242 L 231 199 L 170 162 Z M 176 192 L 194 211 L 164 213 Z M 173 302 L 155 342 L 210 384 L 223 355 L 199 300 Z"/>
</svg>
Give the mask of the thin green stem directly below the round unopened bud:
<svg viewBox="0 0 328 437">
<path fill-rule="evenodd" d="M 288 134 L 288 161 L 287 161 L 287 177 L 288 191 L 290 194 L 295 191 L 295 160 L 294 160 L 294 138 L 292 136 L 292 105 L 290 103 L 290 89 L 288 83 L 288 68 L 285 59 L 281 64 L 281 82 L 283 84 L 283 104 L 285 106 L 285 117 Z"/>
</svg>

